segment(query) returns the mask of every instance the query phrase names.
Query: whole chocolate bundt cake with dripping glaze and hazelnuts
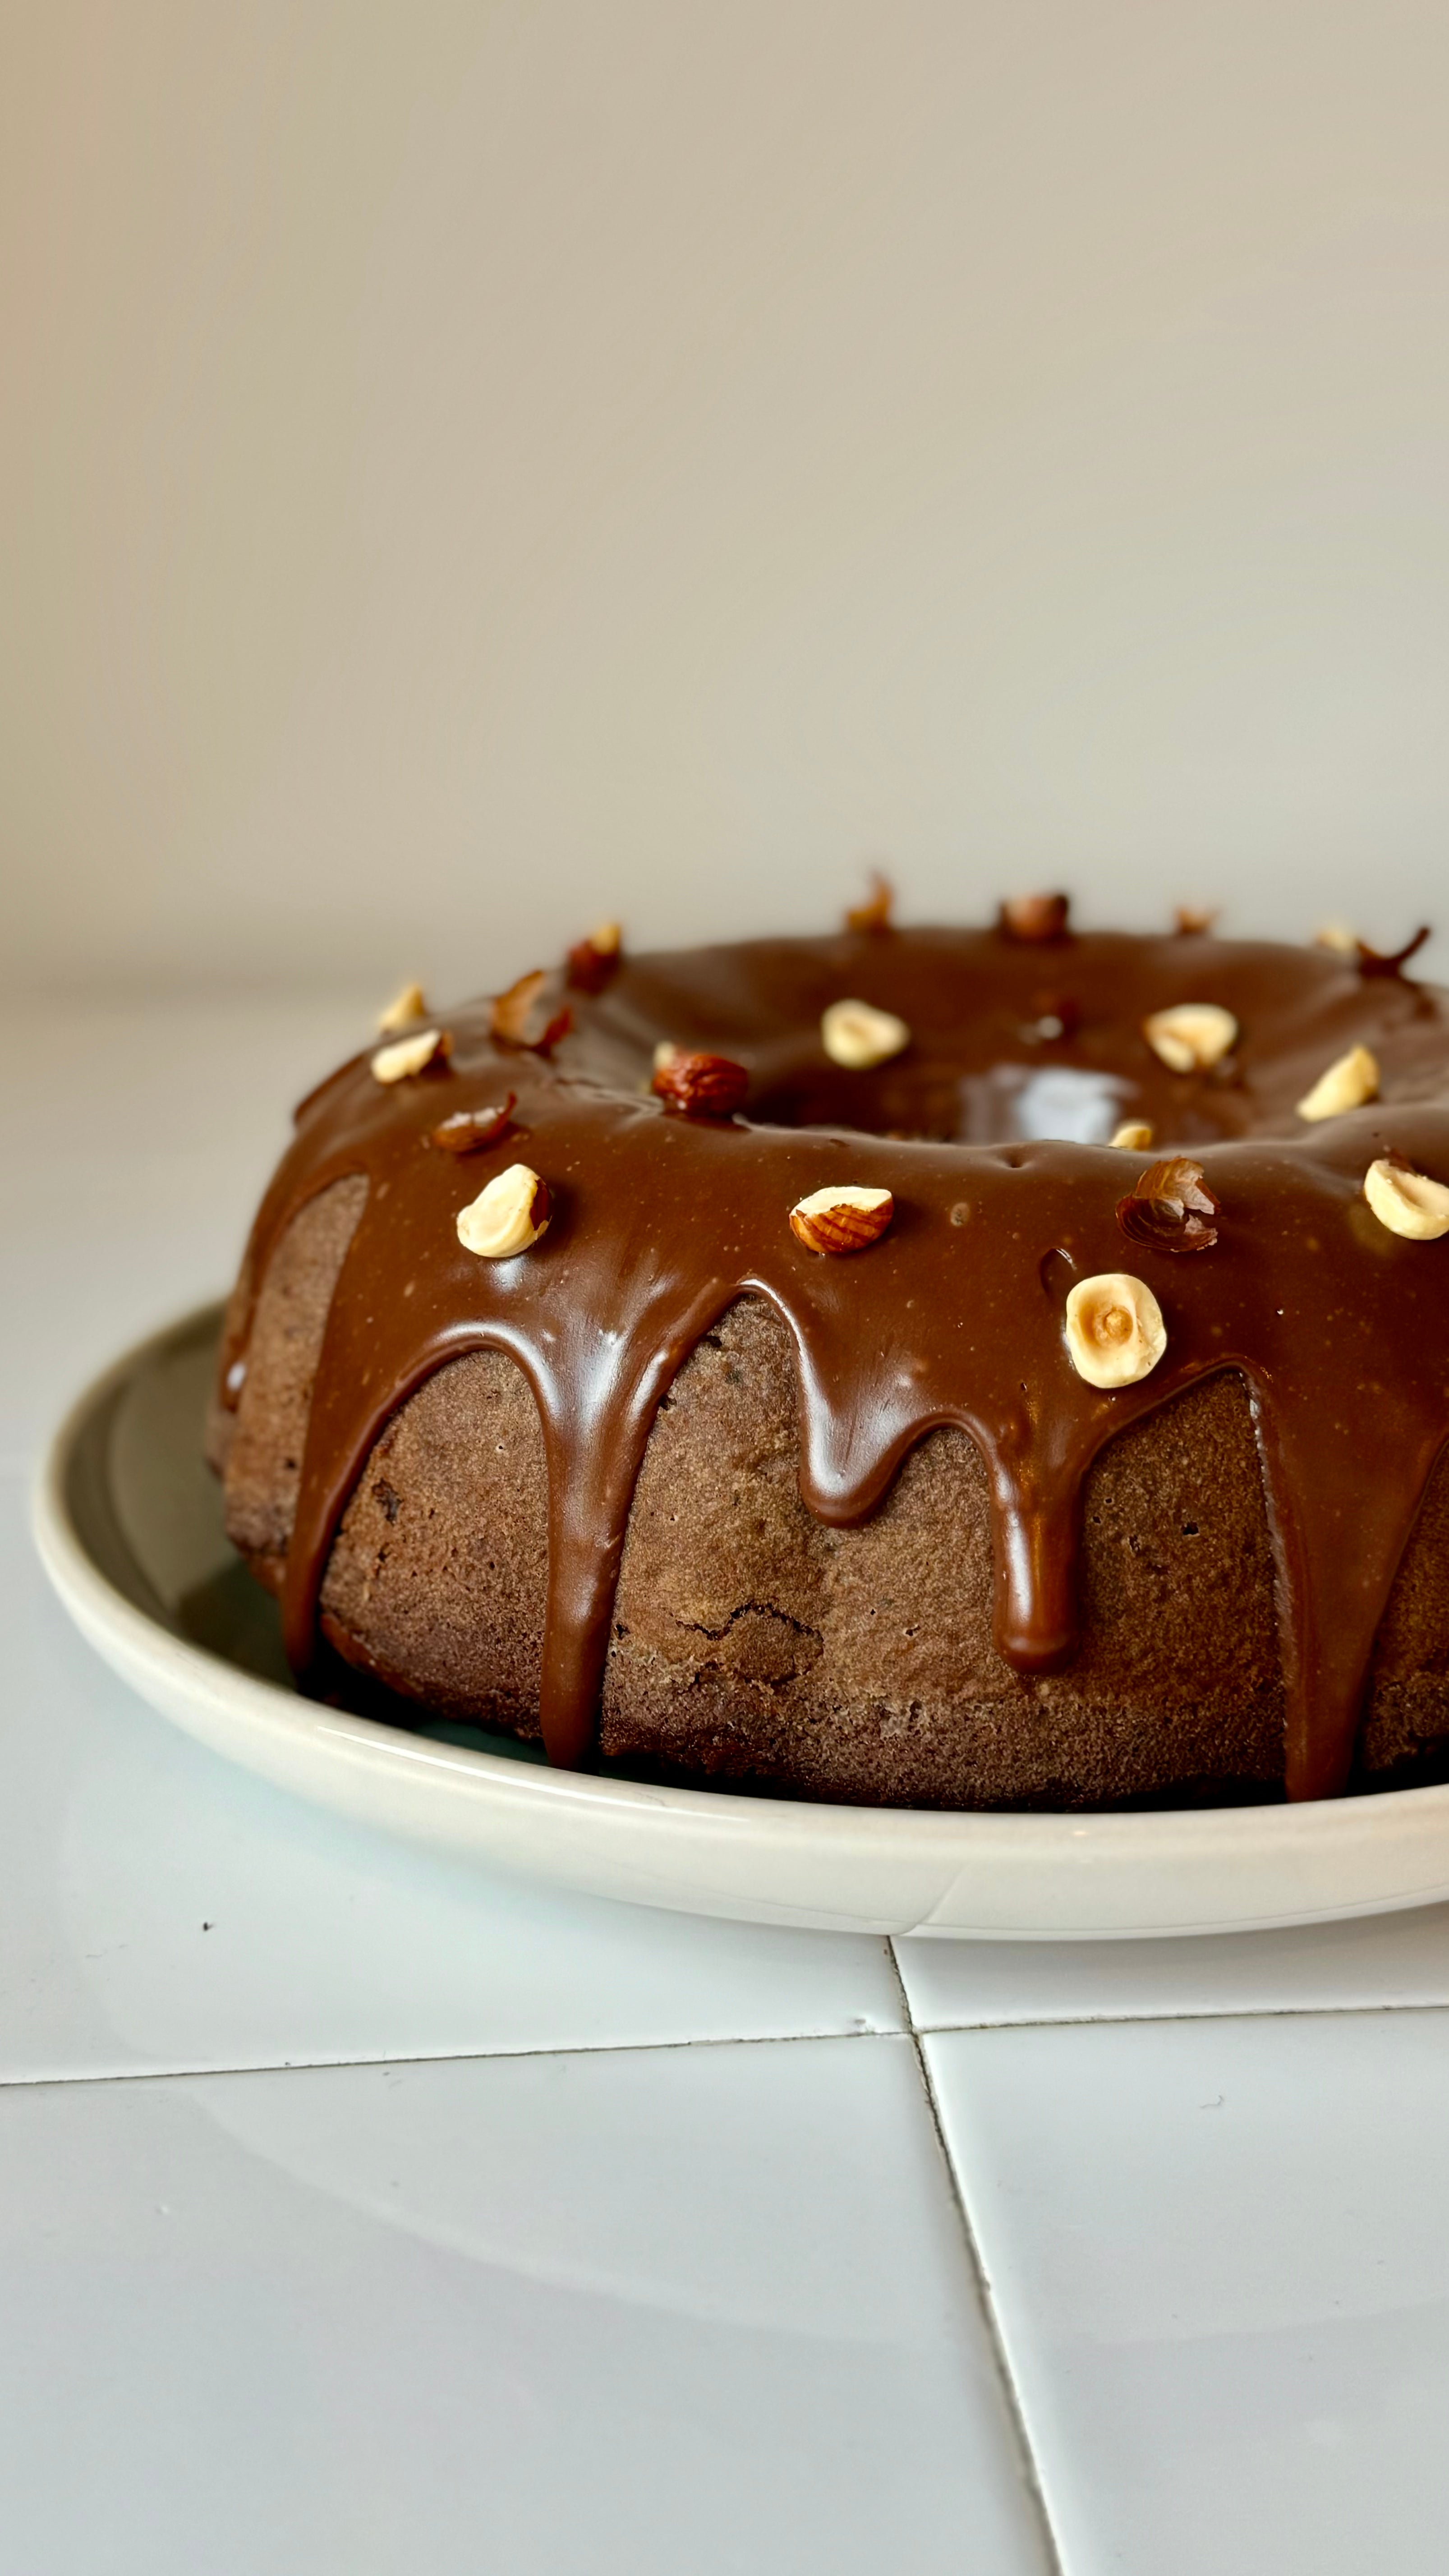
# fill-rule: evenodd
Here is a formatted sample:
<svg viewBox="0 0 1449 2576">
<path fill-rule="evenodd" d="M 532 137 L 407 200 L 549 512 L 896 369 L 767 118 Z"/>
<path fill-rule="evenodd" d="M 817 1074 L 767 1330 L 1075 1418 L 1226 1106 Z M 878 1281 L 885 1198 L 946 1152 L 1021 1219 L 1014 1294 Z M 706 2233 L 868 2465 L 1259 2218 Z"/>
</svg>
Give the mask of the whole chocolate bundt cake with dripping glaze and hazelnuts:
<svg viewBox="0 0 1449 2576">
<path fill-rule="evenodd" d="M 1449 1749 L 1449 994 L 990 930 L 624 956 L 297 1110 L 211 1455 L 309 1687 L 908 1806 Z"/>
</svg>

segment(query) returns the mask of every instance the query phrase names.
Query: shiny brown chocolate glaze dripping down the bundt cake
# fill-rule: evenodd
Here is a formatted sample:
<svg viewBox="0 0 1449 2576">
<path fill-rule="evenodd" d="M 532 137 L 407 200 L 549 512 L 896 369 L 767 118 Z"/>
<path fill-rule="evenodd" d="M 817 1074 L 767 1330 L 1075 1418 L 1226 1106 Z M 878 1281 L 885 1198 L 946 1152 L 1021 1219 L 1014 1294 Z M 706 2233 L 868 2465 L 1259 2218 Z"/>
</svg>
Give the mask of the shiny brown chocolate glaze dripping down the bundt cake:
<svg viewBox="0 0 1449 2576">
<path fill-rule="evenodd" d="M 843 1072 L 820 1012 L 846 994 L 900 1012 L 908 1054 Z M 554 1059 L 503 1048 L 487 1005 L 449 1015 L 451 1066 L 379 1087 L 345 1064 L 297 1118 L 250 1244 L 250 1298 L 307 1198 L 345 1175 L 369 1195 L 333 1298 L 297 1525 L 286 1649 L 317 1654 L 327 1553 L 389 1414 L 446 1360 L 495 1347 L 534 1388 L 549 1471 L 541 1731 L 549 1757 L 593 1741 L 634 1479 L 670 1378 L 737 1296 L 784 1316 L 802 1394 L 799 1486 L 825 1522 L 856 1522 L 933 1425 L 987 1466 L 995 1641 L 1016 1672 L 1075 1649 L 1083 1479 L 1114 1432 L 1183 1386 L 1238 1368 L 1250 1388 L 1276 1558 L 1287 1788 L 1343 1788 L 1374 1633 L 1428 1473 L 1449 1435 L 1449 1239 L 1403 1242 L 1361 1198 L 1395 1149 L 1449 1180 L 1449 994 L 1364 979 L 1323 951 L 1214 938 L 843 933 L 627 958 L 572 992 Z M 1222 1002 L 1230 1064 L 1171 1074 L 1147 1012 Z M 1065 1010 L 1060 1005 L 1067 1005 Z M 1055 1036 L 1055 1030 L 1062 1036 Z M 732 1123 L 647 1097 L 660 1038 L 750 1072 Z M 1318 1074 L 1364 1041 L 1385 1100 L 1305 1126 Z M 513 1126 L 459 1162 L 428 1144 L 451 1110 L 518 1095 Z M 1150 1154 L 1101 1141 L 1147 1118 Z M 1116 1200 L 1142 1164 L 1191 1146 L 1222 1203 L 1191 1260 L 1127 1242 Z M 554 1218 L 529 1252 L 487 1262 L 454 1218 L 485 1180 L 529 1162 Z M 822 1260 L 789 1231 L 830 1180 L 884 1185 L 890 1234 Z M 967 1211 L 967 1213 L 964 1213 Z M 1111 1394 L 1062 1342 L 1075 1278 L 1134 1270 L 1168 1324 L 1155 1373 Z M 245 1378 L 250 1311 L 222 1352 L 222 1401 Z"/>
</svg>

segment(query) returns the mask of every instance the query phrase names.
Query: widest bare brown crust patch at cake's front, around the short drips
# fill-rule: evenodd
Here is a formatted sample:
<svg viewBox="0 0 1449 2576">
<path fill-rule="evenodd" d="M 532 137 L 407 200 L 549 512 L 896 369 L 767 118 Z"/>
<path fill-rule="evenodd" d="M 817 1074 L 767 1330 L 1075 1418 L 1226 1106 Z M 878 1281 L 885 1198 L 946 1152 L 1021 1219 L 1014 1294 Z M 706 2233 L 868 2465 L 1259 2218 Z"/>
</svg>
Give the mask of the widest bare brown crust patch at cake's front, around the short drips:
<svg viewBox="0 0 1449 2576">
<path fill-rule="evenodd" d="M 1281 1775 L 1271 1553 L 1248 1404 L 1214 1378 L 1085 1486 L 1083 1643 L 1018 1680 L 993 1646 L 985 1471 L 931 1432 L 882 1510 L 830 1530 L 797 1486 L 784 1324 L 735 1306 L 639 1476 L 603 1747 L 812 1795 L 1075 1803 Z"/>
</svg>

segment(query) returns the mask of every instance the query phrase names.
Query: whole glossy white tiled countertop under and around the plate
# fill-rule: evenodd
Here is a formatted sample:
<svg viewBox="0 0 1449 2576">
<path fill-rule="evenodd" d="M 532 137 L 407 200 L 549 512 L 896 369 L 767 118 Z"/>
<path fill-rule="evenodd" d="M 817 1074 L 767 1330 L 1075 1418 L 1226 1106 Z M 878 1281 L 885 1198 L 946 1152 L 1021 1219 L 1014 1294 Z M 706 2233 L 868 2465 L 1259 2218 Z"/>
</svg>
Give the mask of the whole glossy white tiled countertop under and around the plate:
<svg viewBox="0 0 1449 2576">
<path fill-rule="evenodd" d="M 0 2566 L 1439 2576 L 1449 1909 L 892 1953 L 562 1899 L 70 1631 L 36 1445 L 361 1036 L 8 1012 Z"/>
</svg>

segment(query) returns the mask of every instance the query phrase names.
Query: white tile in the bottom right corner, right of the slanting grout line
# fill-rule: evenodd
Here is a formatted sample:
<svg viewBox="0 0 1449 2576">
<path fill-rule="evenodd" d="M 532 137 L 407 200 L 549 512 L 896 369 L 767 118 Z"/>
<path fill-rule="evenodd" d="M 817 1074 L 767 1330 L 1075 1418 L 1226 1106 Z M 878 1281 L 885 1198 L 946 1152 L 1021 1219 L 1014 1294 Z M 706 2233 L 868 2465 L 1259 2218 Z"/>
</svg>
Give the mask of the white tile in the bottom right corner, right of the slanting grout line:
<svg viewBox="0 0 1449 2576">
<path fill-rule="evenodd" d="M 1067 2576 L 1441 2576 L 1449 2014 L 928 2058 Z"/>
</svg>

